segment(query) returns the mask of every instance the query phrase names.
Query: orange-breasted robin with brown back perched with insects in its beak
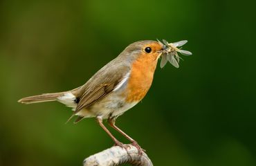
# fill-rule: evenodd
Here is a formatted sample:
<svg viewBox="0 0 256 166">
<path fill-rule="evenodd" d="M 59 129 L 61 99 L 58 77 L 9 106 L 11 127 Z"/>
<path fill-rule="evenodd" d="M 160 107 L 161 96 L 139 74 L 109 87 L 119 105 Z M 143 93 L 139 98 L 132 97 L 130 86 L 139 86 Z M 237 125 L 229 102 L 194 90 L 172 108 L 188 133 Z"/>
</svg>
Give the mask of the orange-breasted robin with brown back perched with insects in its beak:
<svg viewBox="0 0 256 166">
<path fill-rule="evenodd" d="M 164 43 L 152 40 L 134 42 L 127 46 L 118 57 L 103 66 L 84 85 L 71 91 L 22 98 L 19 102 L 31 104 L 56 100 L 66 104 L 73 108 L 73 116 L 78 116 L 75 123 L 84 118 L 96 118 L 100 127 L 108 133 L 115 145 L 126 148 L 102 123 L 102 120 L 107 119 L 113 129 L 125 136 L 131 145 L 141 152 L 142 149 L 136 140 L 116 127 L 115 122 L 118 116 L 134 107 L 145 97 L 152 85 L 158 58 L 162 54 L 175 55 L 170 52 L 174 50 L 169 46 L 170 44 L 168 45 L 166 41 Z M 172 46 L 183 44 L 184 42 L 180 42 Z M 177 51 L 179 52 L 179 49 Z"/>
</svg>

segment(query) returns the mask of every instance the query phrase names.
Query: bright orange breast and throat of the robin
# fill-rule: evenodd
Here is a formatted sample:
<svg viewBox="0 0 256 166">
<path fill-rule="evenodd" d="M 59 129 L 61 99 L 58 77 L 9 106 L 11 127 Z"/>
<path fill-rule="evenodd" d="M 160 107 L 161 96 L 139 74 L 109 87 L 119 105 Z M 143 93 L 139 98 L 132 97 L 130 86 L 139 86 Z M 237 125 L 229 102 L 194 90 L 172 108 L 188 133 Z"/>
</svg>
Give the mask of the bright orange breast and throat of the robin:
<svg viewBox="0 0 256 166">
<path fill-rule="evenodd" d="M 157 59 L 142 54 L 131 66 L 131 74 L 127 84 L 126 101 L 138 102 L 142 100 L 152 85 Z"/>
</svg>

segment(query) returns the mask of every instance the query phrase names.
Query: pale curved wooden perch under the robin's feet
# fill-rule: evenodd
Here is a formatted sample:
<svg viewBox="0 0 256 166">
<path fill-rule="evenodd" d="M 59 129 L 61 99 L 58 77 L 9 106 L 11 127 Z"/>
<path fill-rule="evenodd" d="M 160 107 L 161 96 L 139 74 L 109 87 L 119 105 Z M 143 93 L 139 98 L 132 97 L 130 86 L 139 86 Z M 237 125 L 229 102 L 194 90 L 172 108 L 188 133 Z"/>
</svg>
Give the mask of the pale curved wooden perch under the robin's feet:
<svg viewBox="0 0 256 166">
<path fill-rule="evenodd" d="M 147 154 L 138 154 L 138 149 L 132 145 L 127 150 L 122 147 L 111 147 L 98 154 L 84 159 L 84 166 L 118 166 L 125 163 L 135 166 L 153 166 Z"/>
</svg>

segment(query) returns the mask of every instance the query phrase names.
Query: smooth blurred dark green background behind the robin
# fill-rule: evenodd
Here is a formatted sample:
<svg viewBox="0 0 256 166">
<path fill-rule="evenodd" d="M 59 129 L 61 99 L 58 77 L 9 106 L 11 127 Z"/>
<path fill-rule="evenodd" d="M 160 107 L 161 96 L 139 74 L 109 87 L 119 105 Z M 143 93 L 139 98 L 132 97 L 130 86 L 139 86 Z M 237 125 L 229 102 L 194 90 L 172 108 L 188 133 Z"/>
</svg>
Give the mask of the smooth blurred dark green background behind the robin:
<svg viewBox="0 0 256 166">
<path fill-rule="evenodd" d="M 255 16 L 247 0 L 0 1 L 0 165 L 82 165 L 111 147 L 94 119 L 17 100 L 80 86 L 141 39 L 188 39 L 193 55 L 158 66 L 118 126 L 154 165 L 256 165 Z"/>
</svg>

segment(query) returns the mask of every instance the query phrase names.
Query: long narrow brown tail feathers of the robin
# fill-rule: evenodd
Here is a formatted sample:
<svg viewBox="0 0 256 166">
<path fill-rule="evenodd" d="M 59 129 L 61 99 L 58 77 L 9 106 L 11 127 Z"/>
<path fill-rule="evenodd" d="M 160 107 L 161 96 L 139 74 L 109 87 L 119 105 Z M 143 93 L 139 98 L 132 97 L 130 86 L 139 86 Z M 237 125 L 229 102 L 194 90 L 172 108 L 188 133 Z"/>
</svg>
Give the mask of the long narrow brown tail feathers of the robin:
<svg viewBox="0 0 256 166">
<path fill-rule="evenodd" d="M 60 93 L 45 93 L 42 95 L 33 95 L 26 98 L 21 98 L 18 102 L 24 103 L 24 104 L 32 104 L 37 102 L 51 102 L 55 101 L 58 98 L 62 97 L 66 92 L 60 92 Z"/>
</svg>

